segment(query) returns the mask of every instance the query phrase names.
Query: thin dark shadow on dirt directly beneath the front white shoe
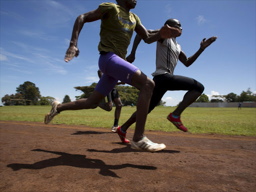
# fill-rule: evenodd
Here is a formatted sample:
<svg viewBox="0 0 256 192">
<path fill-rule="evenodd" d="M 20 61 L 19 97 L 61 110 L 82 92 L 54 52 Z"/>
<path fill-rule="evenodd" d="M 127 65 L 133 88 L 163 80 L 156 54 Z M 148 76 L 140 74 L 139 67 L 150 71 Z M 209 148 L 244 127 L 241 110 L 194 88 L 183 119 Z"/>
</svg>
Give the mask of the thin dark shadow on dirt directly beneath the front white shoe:
<svg viewBox="0 0 256 192">
<path fill-rule="evenodd" d="M 123 144 L 123 143 L 122 143 Z M 96 150 L 96 149 L 87 149 L 87 151 L 89 152 L 106 152 L 106 153 L 120 153 L 120 152 L 147 152 L 147 151 L 143 151 L 143 150 L 136 150 L 136 149 L 132 149 L 130 147 L 129 144 L 125 144 L 126 146 L 122 147 L 122 148 L 113 148 L 111 150 Z M 180 152 L 179 150 L 159 150 L 159 151 L 155 151 L 155 152 L 166 152 L 166 153 L 178 153 Z"/>
</svg>

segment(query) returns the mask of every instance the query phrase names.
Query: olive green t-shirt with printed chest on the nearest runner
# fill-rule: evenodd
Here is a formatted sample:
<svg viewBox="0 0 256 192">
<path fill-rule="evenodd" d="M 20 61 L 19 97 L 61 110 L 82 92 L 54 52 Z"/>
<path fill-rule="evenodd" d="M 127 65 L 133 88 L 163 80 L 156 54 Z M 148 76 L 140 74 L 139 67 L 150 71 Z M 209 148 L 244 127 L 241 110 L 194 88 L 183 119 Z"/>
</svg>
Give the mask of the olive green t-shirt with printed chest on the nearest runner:
<svg viewBox="0 0 256 192">
<path fill-rule="evenodd" d="M 125 60 L 134 28 L 141 24 L 138 16 L 112 2 L 101 3 L 99 9 L 102 13 L 99 52 L 111 51 Z"/>
</svg>

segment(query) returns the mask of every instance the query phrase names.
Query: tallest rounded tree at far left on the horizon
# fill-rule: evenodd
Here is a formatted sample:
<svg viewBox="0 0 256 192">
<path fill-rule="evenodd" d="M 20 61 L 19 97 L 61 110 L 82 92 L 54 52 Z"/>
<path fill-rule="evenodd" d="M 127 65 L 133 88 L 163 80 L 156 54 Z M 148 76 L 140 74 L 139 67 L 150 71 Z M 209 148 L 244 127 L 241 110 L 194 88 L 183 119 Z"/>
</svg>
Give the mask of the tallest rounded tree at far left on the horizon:
<svg viewBox="0 0 256 192">
<path fill-rule="evenodd" d="M 16 87 L 16 91 L 22 94 L 25 100 L 31 100 L 32 105 L 36 105 L 41 97 L 39 88 L 30 81 L 25 81 L 23 84 L 20 84 Z M 29 101 L 26 101 L 26 104 L 29 104 Z"/>
</svg>

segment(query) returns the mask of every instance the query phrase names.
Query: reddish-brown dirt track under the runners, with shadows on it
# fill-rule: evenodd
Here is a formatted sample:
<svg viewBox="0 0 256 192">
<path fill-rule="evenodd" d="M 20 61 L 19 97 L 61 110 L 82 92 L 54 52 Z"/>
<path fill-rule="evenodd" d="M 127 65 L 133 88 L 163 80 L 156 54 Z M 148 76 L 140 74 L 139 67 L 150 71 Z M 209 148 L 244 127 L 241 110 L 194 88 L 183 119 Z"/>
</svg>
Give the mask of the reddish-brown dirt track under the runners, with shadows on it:
<svg viewBox="0 0 256 192">
<path fill-rule="evenodd" d="M 256 191 L 255 137 L 146 135 L 167 147 L 133 150 L 105 128 L 0 121 L 0 191 Z"/>
</svg>

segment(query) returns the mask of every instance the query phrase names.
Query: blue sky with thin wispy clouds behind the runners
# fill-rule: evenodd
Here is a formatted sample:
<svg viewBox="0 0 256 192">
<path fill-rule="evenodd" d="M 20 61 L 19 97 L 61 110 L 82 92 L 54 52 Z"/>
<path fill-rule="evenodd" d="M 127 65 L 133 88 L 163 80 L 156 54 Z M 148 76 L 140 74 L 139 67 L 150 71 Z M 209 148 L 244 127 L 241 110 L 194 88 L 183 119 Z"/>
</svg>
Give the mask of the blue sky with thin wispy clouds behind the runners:
<svg viewBox="0 0 256 192">
<path fill-rule="evenodd" d="M 42 96 L 72 100 L 86 86 L 98 81 L 100 21 L 85 23 L 78 38 L 80 54 L 68 63 L 64 54 L 73 23 L 101 2 L 115 0 L 0 0 L 0 97 L 16 92 L 24 81 L 39 87 Z M 174 74 L 200 81 L 204 94 L 240 94 L 256 88 L 255 0 L 137 0 L 132 12 L 147 29 L 160 28 L 168 18 L 181 22 L 177 42 L 187 57 L 205 37 L 217 36 L 197 60 L 185 67 L 178 62 Z M 133 38 L 128 47 L 131 50 Z M 156 43 L 141 41 L 134 65 L 152 78 Z M 163 100 L 174 106 L 185 91 L 167 91 Z"/>
</svg>

